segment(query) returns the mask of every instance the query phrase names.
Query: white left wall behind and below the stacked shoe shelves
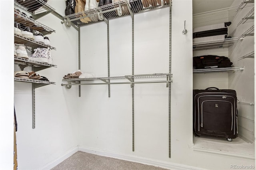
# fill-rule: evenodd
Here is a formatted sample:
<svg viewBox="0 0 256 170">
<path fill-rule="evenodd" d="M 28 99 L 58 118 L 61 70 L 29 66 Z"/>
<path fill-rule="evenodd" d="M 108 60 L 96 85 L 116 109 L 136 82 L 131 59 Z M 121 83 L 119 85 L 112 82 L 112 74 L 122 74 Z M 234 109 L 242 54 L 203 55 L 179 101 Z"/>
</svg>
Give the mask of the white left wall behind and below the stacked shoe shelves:
<svg viewBox="0 0 256 170">
<path fill-rule="evenodd" d="M 64 15 L 64 1 L 50 0 L 48 4 Z M 56 85 L 46 85 L 35 90 L 36 128 L 32 129 L 32 85 L 14 83 L 20 170 L 47 169 L 49 163 L 54 164 L 52 161 L 64 156 L 78 144 L 78 89 L 73 87 L 66 90 L 61 86 L 62 77 L 78 68 L 78 32 L 72 27 L 66 28 L 52 14 L 40 18 L 38 22 L 56 30 L 56 33 L 47 36 L 51 45 L 56 47 L 51 53 L 57 68 L 51 67 L 37 72 L 56 82 Z M 12 35 L 13 33 L 10 36 Z M 15 70 L 20 68 L 15 65 Z M 25 71 L 31 71 L 31 67 L 26 67 Z"/>
</svg>

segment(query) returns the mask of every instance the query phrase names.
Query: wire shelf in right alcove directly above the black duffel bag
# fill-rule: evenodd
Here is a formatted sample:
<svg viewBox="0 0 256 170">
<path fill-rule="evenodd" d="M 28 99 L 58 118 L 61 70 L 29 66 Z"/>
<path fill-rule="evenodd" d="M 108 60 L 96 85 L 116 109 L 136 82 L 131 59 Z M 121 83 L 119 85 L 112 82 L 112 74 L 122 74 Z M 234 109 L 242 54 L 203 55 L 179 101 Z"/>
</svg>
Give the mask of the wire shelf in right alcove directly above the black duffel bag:
<svg viewBox="0 0 256 170">
<path fill-rule="evenodd" d="M 204 42 L 194 42 L 193 50 L 228 47 L 230 45 L 234 45 L 234 43 L 239 39 L 240 38 L 235 37 L 235 38 L 226 38 L 226 39 L 211 40 L 211 41 L 204 41 Z"/>
</svg>

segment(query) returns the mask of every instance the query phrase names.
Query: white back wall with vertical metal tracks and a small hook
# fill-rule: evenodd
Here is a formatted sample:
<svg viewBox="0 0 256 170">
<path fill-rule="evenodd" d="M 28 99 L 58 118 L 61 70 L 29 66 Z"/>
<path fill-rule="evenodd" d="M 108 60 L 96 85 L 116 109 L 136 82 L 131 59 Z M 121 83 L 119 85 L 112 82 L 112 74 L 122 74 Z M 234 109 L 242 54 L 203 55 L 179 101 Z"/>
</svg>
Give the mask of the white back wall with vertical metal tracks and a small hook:
<svg viewBox="0 0 256 170">
<path fill-rule="evenodd" d="M 186 35 L 182 35 L 184 20 Z M 134 74 L 168 72 L 168 22 L 169 8 L 134 16 Z M 131 74 L 131 25 L 130 17 L 110 20 L 110 76 Z M 106 29 L 104 22 L 81 28 L 81 46 L 90 46 L 81 51 L 81 70 L 93 72 L 96 77 L 107 76 Z M 254 165 L 254 160 L 193 151 L 192 56 L 192 0 L 173 0 L 171 158 L 168 158 L 168 88 L 164 83 L 134 87 L 134 152 L 130 86 L 111 85 L 110 98 L 106 85 L 83 86 L 79 99 L 80 147 L 135 160 L 205 169 L 230 169 L 230 164 Z M 227 76 L 224 74 L 222 79 Z M 228 81 L 223 87 L 228 87 Z"/>
</svg>

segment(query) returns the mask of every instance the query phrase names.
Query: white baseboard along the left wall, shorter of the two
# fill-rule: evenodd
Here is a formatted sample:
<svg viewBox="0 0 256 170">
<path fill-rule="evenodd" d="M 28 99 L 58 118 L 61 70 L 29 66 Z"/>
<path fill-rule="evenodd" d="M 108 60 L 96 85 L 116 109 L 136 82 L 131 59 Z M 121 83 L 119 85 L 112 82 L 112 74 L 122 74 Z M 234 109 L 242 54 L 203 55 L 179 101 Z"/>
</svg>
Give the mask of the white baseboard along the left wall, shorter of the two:
<svg viewBox="0 0 256 170">
<path fill-rule="evenodd" d="M 53 160 L 52 162 L 50 162 L 50 163 L 46 164 L 45 166 L 43 166 L 42 168 L 40 168 L 40 170 L 52 169 L 54 166 L 60 164 L 60 162 L 64 161 L 66 158 L 70 157 L 72 154 L 76 153 L 77 151 L 78 151 L 78 147 L 75 147 L 75 148 L 67 151 L 62 156 L 58 157 L 56 160 Z"/>
</svg>

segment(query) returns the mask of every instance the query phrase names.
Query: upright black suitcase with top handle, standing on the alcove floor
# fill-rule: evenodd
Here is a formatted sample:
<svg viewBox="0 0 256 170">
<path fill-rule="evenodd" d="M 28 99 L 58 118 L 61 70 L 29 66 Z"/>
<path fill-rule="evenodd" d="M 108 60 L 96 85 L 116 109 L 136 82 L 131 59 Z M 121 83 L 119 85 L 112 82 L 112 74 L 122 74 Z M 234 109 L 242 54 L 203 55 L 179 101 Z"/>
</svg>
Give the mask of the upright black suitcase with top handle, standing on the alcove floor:
<svg viewBox="0 0 256 170">
<path fill-rule="evenodd" d="M 209 87 L 193 90 L 193 129 L 196 136 L 237 137 L 236 91 Z"/>
</svg>

